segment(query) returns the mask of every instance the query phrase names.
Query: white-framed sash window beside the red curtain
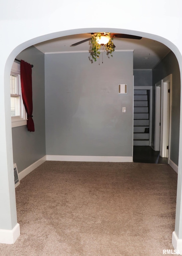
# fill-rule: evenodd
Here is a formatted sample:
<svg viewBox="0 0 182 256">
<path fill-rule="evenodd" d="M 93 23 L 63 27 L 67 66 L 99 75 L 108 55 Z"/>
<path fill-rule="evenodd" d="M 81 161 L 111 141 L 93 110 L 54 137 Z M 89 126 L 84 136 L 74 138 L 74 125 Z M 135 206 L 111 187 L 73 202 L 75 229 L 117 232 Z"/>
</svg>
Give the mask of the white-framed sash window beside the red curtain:
<svg viewBox="0 0 182 256">
<path fill-rule="evenodd" d="M 27 124 L 27 115 L 21 95 L 20 64 L 14 62 L 10 75 L 11 94 L 11 126 L 17 127 Z"/>
</svg>

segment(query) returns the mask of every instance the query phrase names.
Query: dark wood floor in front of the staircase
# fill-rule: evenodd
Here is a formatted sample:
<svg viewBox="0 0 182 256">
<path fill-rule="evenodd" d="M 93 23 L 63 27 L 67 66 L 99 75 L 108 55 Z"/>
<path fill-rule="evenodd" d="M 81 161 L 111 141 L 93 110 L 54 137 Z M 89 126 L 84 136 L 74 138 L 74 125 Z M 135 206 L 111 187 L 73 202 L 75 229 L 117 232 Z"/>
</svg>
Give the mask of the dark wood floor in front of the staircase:
<svg viewBox="0 0 182 256">
<path fill-rule="evenodd" d="M 168 158 L 160 157 L 160 151 L 154 151 L 150 146 L 133 146 L 133 162 L 168 164 Z"/>
</svg>

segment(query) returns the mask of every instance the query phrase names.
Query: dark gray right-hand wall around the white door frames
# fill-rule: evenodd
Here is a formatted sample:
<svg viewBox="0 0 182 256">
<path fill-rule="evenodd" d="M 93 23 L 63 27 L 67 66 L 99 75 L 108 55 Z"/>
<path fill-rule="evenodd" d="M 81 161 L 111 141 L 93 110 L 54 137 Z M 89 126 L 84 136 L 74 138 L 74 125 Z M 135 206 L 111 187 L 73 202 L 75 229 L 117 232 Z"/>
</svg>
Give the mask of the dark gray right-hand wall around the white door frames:
<svg viewBox="0 0 182 256">
<path fill-rule="evenodd" d="M 154 86 L 153 106 L 155 109 L 155 84 L 166 76 L 172 74 L 172 114 L 171 114 L 171 153 L 170 159 L 178 165 L 179 156 L 179 118 L 180 118 L 180 71 L 179 64 L 171 51 L 152 72 Z M 155 111 L 153 111 L 152 140 L 154 143 Z"/>
</svg>

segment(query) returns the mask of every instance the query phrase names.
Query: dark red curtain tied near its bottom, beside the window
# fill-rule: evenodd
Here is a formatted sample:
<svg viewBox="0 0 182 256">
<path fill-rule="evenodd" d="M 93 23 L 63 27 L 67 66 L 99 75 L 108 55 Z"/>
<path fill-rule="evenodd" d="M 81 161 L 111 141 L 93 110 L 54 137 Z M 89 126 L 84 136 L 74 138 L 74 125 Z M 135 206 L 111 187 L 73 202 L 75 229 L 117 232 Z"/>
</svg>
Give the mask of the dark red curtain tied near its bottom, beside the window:
<svg viewBox="0 0 182 256">
<path fill-rule="evenodd" d="M 35 131 L 34 121 L 32 119 L 32 67 L 29 63 L 21 60 L 20 62 L 20 78 L 22 87 L 22 99 L 27 113 L 27 129 Z"/>
</svg>

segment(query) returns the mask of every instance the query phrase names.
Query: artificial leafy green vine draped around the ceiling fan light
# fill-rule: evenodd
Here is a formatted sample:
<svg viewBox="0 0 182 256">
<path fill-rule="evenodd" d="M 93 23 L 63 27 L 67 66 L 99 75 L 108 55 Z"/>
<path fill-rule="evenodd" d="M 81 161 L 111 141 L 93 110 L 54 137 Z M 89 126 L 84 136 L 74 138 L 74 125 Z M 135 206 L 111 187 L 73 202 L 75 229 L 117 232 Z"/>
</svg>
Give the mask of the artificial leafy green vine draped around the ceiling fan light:
<svg viewBox="0 0 182 256">
<path fill-rule="evenodd" d="M 107 37 L 109 41 L 106 44 L 100 44 L 98 43 L 98 39 L 101 39 L 101 37 Z M 112 53 L 114 52 L 115 45 L 112 42 L 113 38 L 111 37 L 110 33 L 95 33 L 92 35 L 91 38 L 91 44 L 92 44 L 92 58 L 94 61 L 97 61 L 97 58 L 99 58 L 100 55 L 100 47 L 103 46 L 104 50 L 104 45 L 105 49 L 107 51 L 107 54 L 111 54 L 111 57 L 113 57 Z"/>
</svg>

